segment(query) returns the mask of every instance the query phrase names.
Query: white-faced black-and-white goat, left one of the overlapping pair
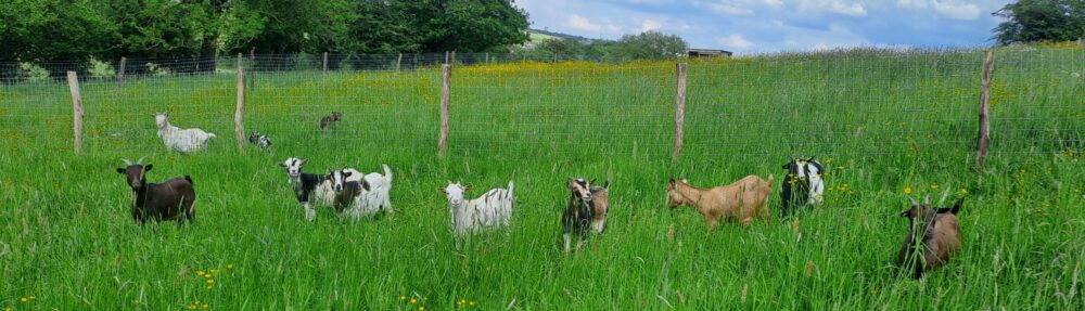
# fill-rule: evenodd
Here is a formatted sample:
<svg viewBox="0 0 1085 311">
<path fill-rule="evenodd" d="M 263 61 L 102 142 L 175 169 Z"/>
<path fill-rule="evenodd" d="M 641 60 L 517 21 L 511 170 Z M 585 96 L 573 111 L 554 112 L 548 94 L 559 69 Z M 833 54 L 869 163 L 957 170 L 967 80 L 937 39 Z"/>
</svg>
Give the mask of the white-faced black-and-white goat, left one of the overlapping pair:
<svg viewBox="0 0 1085 311">
<path fill-rule="evenodd" d="M 316 206 L 327 206 L 335 203 L 335 191 L 332 190 L 332 182 L 327 176 L 302 172 L 302 167 L 306 164 L 308 164 L 308 160 L 290 157 L 280 163 L 279 166 L 286 169 L 286 179 L 291 186 L 294 187 L 294 195 L 297 197 L 297 202 L 302 204 L 302 207 L 305 208 L 305 219 L 312 221 L 317 218 Z M 350 171 L 357 173 L 357 176 L 347 178 L 347 181 L 361 180 L 361 173 L 353 169 Z"/>
</svg>

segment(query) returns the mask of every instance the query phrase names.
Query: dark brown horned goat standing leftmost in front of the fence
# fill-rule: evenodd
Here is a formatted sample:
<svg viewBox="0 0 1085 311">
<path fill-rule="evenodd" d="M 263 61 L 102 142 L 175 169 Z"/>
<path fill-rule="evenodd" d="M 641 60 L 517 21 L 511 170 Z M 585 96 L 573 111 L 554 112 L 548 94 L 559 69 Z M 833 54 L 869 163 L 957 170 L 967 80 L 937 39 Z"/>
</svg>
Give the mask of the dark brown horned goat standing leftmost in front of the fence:
<svg viewBox="0 0 1085 311">
<path fill-rule="evenodd" d="M 141 157 L 135 164 L 128 159 L 124 168 L 117 168 L 118 173 L 128 177 L 128 186 L 132 191 L 132 219 L 136 223 L 143 224 L 148 219 L 195 220 L 195 208 L 192 206 L 196 200 L 196 192 L 192 187 L 192 178 L 174 178 L 163 183 L 146 182 L 146 172 L 154 166 L 143 165 Z"/>
</svg>

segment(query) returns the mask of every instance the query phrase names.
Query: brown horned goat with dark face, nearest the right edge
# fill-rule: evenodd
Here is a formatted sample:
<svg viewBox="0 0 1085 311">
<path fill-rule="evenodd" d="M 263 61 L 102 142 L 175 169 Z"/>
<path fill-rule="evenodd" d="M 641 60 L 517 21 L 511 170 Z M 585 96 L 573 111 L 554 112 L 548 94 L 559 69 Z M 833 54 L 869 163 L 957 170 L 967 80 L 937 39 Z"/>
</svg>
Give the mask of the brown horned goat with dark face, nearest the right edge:
<svg viewBox="0 0 1085 311">
<path fill-rule="evenodd" d="M 908 236 L 904 238 L 896 262 L 902 269 L 910 270 L 912 276 L 922 278 L 923 273 L 945 264 L 949 256 L 960 251 L 960 224 L 957 212 L 965 198 L 957 199 L 952 208 L 931 208 L 931 195 L 919 205 L 908 197 L 911 208 L 901 212 L 908 218 Z"/>
</svg>

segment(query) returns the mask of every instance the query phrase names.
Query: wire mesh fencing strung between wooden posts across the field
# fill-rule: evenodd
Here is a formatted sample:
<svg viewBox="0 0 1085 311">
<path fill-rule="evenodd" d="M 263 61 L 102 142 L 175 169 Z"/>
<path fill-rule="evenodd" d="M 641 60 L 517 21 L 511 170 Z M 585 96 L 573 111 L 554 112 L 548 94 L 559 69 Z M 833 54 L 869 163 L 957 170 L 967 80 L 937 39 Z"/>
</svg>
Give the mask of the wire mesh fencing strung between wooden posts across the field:
<svg viewBox="0 0 1085 311">
<path fill-rule="evenodd" d="M 984 51 L 852 50 L 689 60 L 685 154 L 909 155 L 975 146 Z M 551 55 L 553 56 L 553 55 Z M 536 57 L 537 59 L 537 57 Z M 436 153 L 441 65 L 454 64 L 449 153 L 668 157 L 674 62 L 527 54 L 297 54 L 0 64 L 0 133 L 72 150 L 63 73 L 78 73 L 88 152 L 161 148 L 154 114 L 232 150 L 237 70 L 244 127 L 277 148 Z M 999 49 L 992 154 L 1083 147 L 1085 52 Z M 327 132 L 322 117 L 342 121 Z M 152 143 L 153 142 L 153 143 Z"/>
</svg>

